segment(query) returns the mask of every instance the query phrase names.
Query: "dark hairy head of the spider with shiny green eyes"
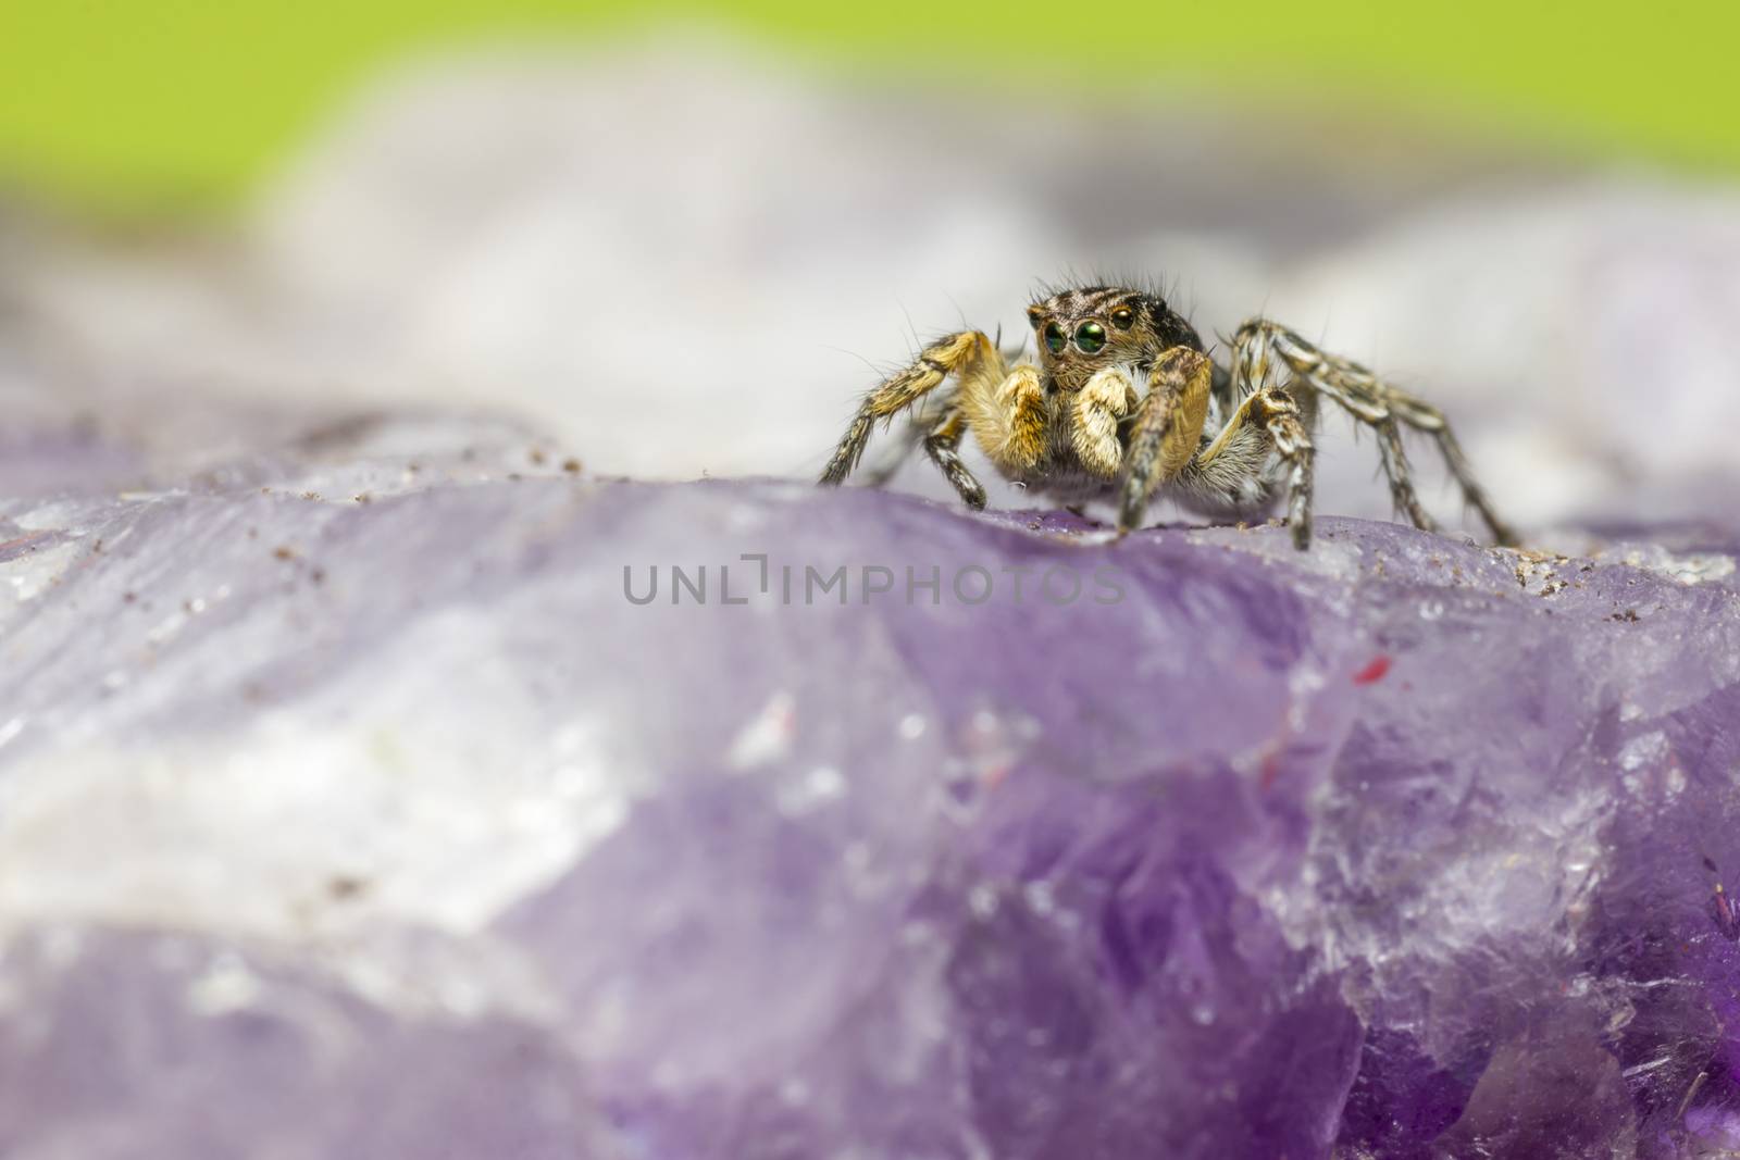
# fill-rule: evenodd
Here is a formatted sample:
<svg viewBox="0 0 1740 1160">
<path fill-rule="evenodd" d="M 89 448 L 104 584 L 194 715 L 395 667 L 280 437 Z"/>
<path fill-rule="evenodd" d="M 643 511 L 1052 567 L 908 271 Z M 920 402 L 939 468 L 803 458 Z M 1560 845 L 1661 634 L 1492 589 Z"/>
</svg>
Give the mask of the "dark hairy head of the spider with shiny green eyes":
<svg viewBox="0 0 1740 1160">
<path fill-rule="evenodd" d="M 1063 391 L 1079 391 L 1105 367 L 1147 369 L 1173 346 L 1202 350 L 1190 323 L 1159 294 L 1143 290 L 1105 285 L 1061 290 L 1028 306 L 1027 317 L 1039 363 Z"/>
</svg>

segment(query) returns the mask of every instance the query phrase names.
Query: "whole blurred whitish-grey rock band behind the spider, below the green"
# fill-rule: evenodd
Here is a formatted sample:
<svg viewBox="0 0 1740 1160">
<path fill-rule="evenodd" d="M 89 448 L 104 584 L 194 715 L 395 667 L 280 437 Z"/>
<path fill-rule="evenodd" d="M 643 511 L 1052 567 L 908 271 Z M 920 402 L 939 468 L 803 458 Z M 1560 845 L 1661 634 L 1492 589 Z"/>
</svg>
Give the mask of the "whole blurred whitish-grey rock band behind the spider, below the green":
<svg viewBox="0 0 1740 1160">
<path fill-rule="evenodd" d="M 0 289 L 70 398 L 143 424 L 171 391 L 485 407 L 600 471 L 806 477 L 919 336 L 1013 343 L 1035 278 L 1147 271 L 1206 332 L 1268 313 L 1442 403 L 1524 523 L 1707 508 L 1740 198 L 1369 136 L 505 49 L 379 80 L 233 237 L 38 243 Z M 1324 510 L 1382 515 L 1369 445 L 1324 442 Z"/>
</svg>

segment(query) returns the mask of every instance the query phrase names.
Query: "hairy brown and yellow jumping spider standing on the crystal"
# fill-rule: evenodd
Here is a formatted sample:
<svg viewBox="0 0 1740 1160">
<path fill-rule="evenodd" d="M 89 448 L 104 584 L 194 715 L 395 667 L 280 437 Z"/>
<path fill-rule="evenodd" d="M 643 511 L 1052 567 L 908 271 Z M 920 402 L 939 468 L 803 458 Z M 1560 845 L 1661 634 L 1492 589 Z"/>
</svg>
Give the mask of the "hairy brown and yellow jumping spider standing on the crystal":
<svg viewBox="0 0 1740 1160">
<path fill-rule="evenodd" d="M 1286 327 L 1263 318 L 1241 325 L 1227 369 L 1155 292 L 1067 289 L 1034 303 L 1027 317 L 1037 363 L 1023 358 L 1009 367 L 983 330 L 931 343 L 870 391 L 821 482 L 840 483 L 853 473 L 879 419 L 917 407 L 907 450 L 922 442 L 969 508 L 985 506 L 985 489 L 957 454 L 967 430 L 1007 480 L 1068 506 L 1115 499 L 1119 532 L 1140 525 L 1161 489 L 1215 518 L 1267 515 L 1284 477 L 1288 525 L 1303 550 L 1310 546 L 1310 431 L 1326 397 L 1376 431 L 1390 496 L 1415 527 L 1437 525 L 1408 478 L 1402 424 L 1437 440 L 1493 537 L 1516 543 L 1442 414 Z M 927 398 L 950 377 L 954 390 Z"/>
</svg>

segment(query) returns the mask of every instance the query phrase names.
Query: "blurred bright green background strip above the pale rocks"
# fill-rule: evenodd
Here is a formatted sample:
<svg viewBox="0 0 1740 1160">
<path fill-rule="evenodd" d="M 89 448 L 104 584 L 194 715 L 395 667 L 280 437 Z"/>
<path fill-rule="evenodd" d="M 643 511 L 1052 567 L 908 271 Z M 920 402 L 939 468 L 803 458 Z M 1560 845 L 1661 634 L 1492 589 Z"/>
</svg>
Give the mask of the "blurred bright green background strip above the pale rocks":
<svg viewBox="0 0 1740 1160">
<path fill-rule="evenodd" d="M 0 0 L 0 179 L 97 209 L 221 207 L 407 52 L 666 23 L 865 73 L 1307 92 L 1578 153 L 1740 167 L 1731 2 Z"/>
</svg>

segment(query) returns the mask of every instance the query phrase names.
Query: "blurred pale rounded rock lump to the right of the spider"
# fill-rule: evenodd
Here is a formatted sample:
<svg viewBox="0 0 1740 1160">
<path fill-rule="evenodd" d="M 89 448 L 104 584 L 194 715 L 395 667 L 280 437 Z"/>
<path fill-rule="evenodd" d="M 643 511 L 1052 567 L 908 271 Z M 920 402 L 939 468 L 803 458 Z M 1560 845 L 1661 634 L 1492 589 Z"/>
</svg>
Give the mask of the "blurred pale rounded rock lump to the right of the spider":
<svg viewBox="0 0 1740 1160">
<path fill-rule="evenodd" d="M 1696 511 L 1735 478 L 1733 191 L 1467 198 L 1289 271 L 1274 303 L 1477 421 L 1482 471 L 1522 518 Z"/>
</svg>

